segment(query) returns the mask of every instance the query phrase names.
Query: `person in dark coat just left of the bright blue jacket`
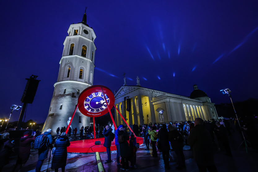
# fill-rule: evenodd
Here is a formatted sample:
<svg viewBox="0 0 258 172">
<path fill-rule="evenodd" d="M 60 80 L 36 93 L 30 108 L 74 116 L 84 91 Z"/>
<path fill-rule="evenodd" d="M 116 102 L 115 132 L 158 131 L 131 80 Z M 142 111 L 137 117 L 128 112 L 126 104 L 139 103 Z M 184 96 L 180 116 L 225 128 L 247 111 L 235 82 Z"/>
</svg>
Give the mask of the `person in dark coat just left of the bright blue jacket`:
<svg viewBox="0 0 258 172">
<path fill-rule="evenodd" d="M 107 149 L 107 160 L 106 160 L 105 164 L 111 162 L 110 147 L 111 147 L 111 142 L 112 142 L 112 134 L 113 134 L 112 133 L 112 128 L 110 128 L 107 125 L 106 128 L 103 130 L 103 135 L 105 137 L 105 141 L 104 141 L 103 146 L 106 147 L 106 149 Z"/>
</svg>

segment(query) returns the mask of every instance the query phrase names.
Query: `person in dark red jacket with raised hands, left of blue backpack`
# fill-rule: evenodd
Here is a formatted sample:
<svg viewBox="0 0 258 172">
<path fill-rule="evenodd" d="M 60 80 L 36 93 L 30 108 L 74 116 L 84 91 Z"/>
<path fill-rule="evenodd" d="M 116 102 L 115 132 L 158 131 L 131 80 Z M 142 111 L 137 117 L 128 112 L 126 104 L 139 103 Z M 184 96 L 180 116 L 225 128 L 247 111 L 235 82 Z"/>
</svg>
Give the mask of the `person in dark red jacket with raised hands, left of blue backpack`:
<svg viewBox="0 0 258 172">
<path fill-rule="evenodd" d="M 28 161 L 30 156 L 31 143 L 36 138 L 36 132 L 34 133 L 33 138 L 31 138 L 31 134 L 29 131 L 25 131 L 23 135 L 24 136 L 20 139 L 20 150 L 18 154 L 18 159 L 12 171 L 19 171 Z"/>
</svg>

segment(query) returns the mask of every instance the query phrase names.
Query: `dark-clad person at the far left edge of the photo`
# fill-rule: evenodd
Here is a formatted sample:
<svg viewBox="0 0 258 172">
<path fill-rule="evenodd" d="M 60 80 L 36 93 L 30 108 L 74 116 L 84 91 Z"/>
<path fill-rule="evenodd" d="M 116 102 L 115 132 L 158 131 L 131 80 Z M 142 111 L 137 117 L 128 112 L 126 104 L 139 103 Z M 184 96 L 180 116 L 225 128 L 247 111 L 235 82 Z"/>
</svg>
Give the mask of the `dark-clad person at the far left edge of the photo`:
<svg viewBox="0 0 258 172">
<path fill-rule="evenodd" d="M 9 135 L 9 133 L 4 133 L 0 141 L 0 171 L 2 171 L 3 166 L 9 163 L 10 154 L 13 153 L 14 143 L 9 139 Z"/>
</svg>

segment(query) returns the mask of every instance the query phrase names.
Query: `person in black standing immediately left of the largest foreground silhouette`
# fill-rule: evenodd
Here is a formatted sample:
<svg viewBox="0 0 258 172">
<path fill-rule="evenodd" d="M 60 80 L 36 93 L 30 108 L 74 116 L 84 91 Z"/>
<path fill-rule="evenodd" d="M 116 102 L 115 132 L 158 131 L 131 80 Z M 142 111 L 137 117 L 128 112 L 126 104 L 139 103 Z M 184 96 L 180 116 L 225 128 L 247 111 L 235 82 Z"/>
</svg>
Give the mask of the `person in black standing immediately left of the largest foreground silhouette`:
<svg viewBox="0 0 258 172">
<path fill-rule="evenodd" d="M 177 130 L 177 127 L 175 127 L 172 124 L 168 125 L 168 140 L 170 141 L 173 151 L 177 155 L 178 166 L 176 167 L 176 169 L 182 170 L 183 168 L 186 168 L 186 160 L 185 160 L 185 155 L 183 152 L 184 137 Z"/>
</svg>

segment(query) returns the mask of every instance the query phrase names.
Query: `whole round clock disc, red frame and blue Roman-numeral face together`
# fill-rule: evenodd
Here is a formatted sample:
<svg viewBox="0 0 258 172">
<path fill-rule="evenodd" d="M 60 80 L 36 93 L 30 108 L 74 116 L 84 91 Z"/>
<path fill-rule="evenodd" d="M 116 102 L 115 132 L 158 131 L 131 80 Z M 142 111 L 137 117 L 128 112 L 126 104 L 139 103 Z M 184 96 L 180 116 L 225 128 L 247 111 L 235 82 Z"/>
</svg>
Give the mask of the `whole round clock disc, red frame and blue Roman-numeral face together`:
<svg viewBox="0 0 258 172">
<path fill-rule="evenodd" d="M 94 85 L 81 92 L 78 102 L 78 108 L 82 114 L 89 117 L 98 117 L 107 114 L 107 106 L 112 109 L 115 97 L 109 88 Z"/>
</svg>

